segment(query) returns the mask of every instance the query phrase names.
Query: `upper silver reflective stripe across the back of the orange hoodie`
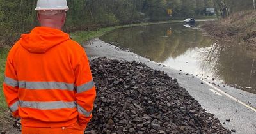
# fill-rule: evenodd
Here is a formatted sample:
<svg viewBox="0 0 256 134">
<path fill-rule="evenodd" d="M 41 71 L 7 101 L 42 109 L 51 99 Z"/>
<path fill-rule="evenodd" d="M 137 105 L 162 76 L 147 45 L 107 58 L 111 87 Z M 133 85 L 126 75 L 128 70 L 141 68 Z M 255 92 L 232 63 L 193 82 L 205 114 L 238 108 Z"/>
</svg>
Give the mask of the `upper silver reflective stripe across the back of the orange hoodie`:
<svg viewBox="0 0 256 134">
<path fill-rule="evenodd" d="M 74 90 L 74 84 L 68 84 L 65 82 L 26 82 L 19 81 L 19 88 L 25 89 L 62 89 L 62 90 Z"/>
</svg>

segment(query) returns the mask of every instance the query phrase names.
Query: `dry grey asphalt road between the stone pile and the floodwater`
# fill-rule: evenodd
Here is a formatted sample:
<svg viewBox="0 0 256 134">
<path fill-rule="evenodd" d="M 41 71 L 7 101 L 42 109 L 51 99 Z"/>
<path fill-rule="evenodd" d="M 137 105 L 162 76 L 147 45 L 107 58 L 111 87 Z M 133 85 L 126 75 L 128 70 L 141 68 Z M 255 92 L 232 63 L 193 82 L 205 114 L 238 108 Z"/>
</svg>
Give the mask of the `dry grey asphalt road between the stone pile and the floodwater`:
<svg viewBox="0 0 256 134">
<path fill-rule="evenodd" d="M 202 107 L 218 117 L 223 126 L 236 133 L 256 134 L 256 94 L 248 93 L 233 87 L 216 87 L 199 77 L 185 75 L 186 73 L 171 67 L 164 67 L 127 50 L 109 45 L 104 41 L 93 39 L 84 44 L 90 59 L 95 57 L 108 57 L 126 61 L 140 61 L 151 68 L 161 70 L 177 78 L 180 86 L 193 96 Z M 217 84 L 216 84 L 217 85 Z M 230 121 L 226 121 L 230 119 Z"/>
</svg>

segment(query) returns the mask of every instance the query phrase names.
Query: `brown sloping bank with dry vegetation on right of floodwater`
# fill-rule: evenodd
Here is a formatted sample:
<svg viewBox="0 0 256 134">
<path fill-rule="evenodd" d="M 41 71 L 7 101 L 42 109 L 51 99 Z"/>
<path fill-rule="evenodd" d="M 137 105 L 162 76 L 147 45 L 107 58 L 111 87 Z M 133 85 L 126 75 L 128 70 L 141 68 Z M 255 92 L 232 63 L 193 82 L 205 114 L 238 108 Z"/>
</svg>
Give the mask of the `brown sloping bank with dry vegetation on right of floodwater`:
<svg viewBox="0 0 256 134">
<path fill-rule="evenodd" d="M 234 13 L 226 19 L 205 22 L 202 28 L 211 36 L 244 43 L 245 47 L 256 50 L 256 12 L 243 11 Z"/>
</svg>

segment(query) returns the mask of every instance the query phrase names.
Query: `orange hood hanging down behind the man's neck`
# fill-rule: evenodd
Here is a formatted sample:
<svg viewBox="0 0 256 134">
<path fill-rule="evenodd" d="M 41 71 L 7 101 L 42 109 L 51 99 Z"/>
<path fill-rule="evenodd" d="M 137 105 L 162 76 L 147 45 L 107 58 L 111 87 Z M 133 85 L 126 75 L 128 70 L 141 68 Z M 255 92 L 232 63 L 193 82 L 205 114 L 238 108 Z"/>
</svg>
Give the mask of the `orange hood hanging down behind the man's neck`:
<svg viewBox="0 0 256 134">
<path fill-rule="evenodd" d="M 45 53 L 69 39 L 68 34 L 58 29 L 35 27 L 31 33 L 22 34 L 20 45 L 31 53 Z"/>
</svg>

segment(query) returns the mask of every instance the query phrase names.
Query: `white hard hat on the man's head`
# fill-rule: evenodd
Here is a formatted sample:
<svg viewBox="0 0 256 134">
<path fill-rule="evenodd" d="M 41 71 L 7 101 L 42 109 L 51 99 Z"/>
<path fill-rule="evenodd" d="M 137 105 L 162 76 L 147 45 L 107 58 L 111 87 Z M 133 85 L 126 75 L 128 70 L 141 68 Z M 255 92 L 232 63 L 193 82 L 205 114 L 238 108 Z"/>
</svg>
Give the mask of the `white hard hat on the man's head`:
<svg viewBox="0 0 256 134">
<path fill-rule="evenodd" d="M 38 0 L 35 10 L 65 10 L 68 11 L 67 0 Z"/>
</svg>

